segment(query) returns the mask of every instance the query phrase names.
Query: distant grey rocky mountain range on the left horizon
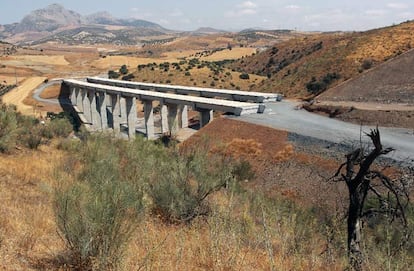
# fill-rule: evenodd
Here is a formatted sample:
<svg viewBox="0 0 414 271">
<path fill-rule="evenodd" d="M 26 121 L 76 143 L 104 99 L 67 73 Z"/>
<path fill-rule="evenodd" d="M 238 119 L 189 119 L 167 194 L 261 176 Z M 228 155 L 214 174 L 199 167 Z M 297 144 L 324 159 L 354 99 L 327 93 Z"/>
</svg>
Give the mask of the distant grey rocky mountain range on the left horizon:
<svg viewBox="0 0 414 271">
<path fill-rule="evenodd" d="M 79 33 L 85 28 L 98 30 L 98 38 L 82 39 Z M 3 25 L 0 27 L 0 39 L 11 43 L 39 43 L 45 41 L 71 40 L 75 43 L 95 44 L 99 42 L 115 42 L 117 44 L 130 44 L 136 36 L 156 36 L 171 31 L 158 24 L 135 19 L 117 19 L 107 12 L 98 12 L 83 16 L 75 11 L 67 10 L 59 4 L 52 4 L 44 9 L 32 11 L 21 22 Z M 88 32 L 89 33 L 89 32 Z M 108 39 L 102 39 L 106 35 Z M 96 33 L 89 33 L 91 36 Z"/>
</svg>

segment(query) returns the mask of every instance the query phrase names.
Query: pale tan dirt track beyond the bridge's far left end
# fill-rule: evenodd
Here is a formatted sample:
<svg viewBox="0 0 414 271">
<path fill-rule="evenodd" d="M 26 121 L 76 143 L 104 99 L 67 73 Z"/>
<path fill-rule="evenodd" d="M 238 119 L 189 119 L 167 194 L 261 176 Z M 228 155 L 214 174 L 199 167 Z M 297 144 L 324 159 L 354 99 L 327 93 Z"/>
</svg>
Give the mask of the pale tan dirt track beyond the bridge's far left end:
<svg viewBox="0 0 414 271">
<path fill-rule="evenodd" d="M 35 115 L 33 107 L 23 103 L 23 100 L 31 95 L 32 91 L 44 82 L 46 77 L 30 77 L 24 80 L 18 87 L 6 93 L 3 97 L 3 103 L 14 104 L 17 110 L 24 115 Z"/>
</svg>

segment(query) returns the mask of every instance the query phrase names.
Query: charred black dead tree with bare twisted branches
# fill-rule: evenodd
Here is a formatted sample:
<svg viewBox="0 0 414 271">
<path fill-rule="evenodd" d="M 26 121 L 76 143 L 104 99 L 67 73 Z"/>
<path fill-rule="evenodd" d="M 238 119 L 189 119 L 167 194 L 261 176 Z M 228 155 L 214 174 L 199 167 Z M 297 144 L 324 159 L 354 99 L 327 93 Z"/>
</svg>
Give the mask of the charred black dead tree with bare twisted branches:
<svg viewBox="0 0 414 271">
<path fill-rule="evenodd" d="M 344 181 L 348 187 L 348 256 L 354 270 L 362 270 L 361 230 L 362 219 L 366 215 L 392 214 L 392 219 L 398 218 L 407 226 L 404 209 L 409 196 L 404 182 L 401 179 L 392 180 L 380 171 L 371 170 L 373 162 L 379 156 L 388 154 L 393 149 L 383 148 L 378 127 L 366 135 L 371 139 L 374 148 L 368 153 L 363 148 L 358 148 L 347 154 L 346 162 L 338 168 L 334 176 L 334 180 Z M 378 198 L 380 208 L 364 210 L 369 192 Z"/>
</svg>

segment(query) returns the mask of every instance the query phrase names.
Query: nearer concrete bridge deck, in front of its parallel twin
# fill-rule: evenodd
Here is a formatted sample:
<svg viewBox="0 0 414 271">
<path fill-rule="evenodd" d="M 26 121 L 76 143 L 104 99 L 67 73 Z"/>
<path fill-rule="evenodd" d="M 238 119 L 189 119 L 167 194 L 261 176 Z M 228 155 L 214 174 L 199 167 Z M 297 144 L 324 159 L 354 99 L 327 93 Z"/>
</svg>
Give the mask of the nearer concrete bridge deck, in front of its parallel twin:
<svg viewBox="0 0 414 271">
<path fill-rule="evenodd" d="M 217 110 L 221 112 L 228 112 L 240 116 L 251 113 L 263 113 L 265 106 L 257 103 L 246 103 L 238 101 L 228 101 L 222 99 L 212 99 L 205 97 L 195 97 L 189 95 L 171 94 L 148 90 L 131 89 L 125 87 L 115 87 L 101 84 L 88 83 L 84 81 L 67 79 L 63 81 L 65 84 L 80 87 L 84 89 L 91 89 L 98 92 L 105 92 L 108 94 L 119 94 L 123 97 L 137 97 L 140 100 L 155 100 L 163 101 L 171 104 L 181 104 L 193 107 L 195 110 Z"/>
</svg>

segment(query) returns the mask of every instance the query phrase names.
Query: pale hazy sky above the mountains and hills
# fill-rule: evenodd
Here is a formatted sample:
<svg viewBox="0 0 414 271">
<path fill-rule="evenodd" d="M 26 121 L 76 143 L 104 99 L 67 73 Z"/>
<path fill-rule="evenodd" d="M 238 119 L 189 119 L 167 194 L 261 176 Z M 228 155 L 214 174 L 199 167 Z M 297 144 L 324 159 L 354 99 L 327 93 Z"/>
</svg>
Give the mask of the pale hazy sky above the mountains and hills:
<svg viewBox="0 0 414 271">
<path fill-rule="evenodd" d="M 413 0 L 0 0 L 0 24 L 53 3 L 82 15 L 107 11 L 173 30 L 361 31 L 414 19 Z"/>
</svg>

